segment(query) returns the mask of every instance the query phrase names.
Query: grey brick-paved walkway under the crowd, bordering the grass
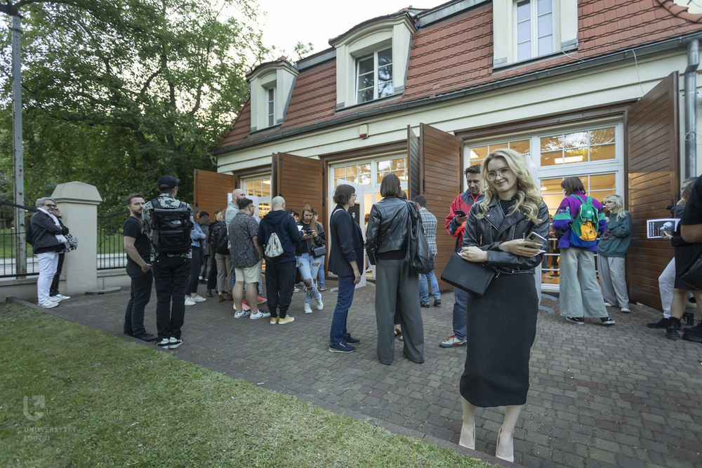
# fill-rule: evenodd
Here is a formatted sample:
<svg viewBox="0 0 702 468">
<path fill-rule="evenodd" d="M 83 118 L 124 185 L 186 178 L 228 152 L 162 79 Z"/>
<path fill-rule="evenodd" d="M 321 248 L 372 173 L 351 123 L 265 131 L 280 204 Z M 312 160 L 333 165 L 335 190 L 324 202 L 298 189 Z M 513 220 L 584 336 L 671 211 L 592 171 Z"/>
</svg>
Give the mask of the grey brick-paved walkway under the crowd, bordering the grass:
<svg viewBox="0 0 702 468">
<path fill-rule="evenodd" d="M 336 283 L 329 281 L 329 286 Z M 200 287 L 204 294 L 204 288 Z M 381 364 L 375 355 L 375 288 L 357 290 L 349 329 L 362 340 L 357 352 L 328 352 L 336 293 L 323 293 L 324 311 L 303 313 L 303 293 L 293 295 L 286 326 L 234 319 L 232 302 L 209 299 L 187 307 L 182 359 L 300 394 L 336 410 L 352 410 L 437 439 L 458 442 L 458 378 L 465 349 L 442 349 L 451 333 L 453 294 L 441 307 L 422 309 L 423 364 L 402 356 Z M 76 297 L 52 314 L 121 335 L 128 292 Z M 155 333 L 156 297 L 147 307 Z M 543 305 L 532 349 L 529 400 L 517 424 L 515 460 L 527 467 L 702 467 L 702 345 L 665 340 L 645 327 L 659 313 L 643 306 L 612 312 L 604 327 L 565 322 L 557 302 Z M 614 311 L 614 309 L 610 309 Z M 495 323 L 496 327 L 501 323 Z M 477 450 L 494 455 L 503 408 L 477 412 Z"/>
</svg>

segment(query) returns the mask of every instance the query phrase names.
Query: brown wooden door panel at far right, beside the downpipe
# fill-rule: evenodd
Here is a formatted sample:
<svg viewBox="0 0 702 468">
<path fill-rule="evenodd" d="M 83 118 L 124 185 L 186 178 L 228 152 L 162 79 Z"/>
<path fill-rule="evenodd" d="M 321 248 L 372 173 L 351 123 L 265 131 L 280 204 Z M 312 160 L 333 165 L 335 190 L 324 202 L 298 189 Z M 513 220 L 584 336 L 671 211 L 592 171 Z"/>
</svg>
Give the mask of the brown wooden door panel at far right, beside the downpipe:
<svg viewBox="0 0 702 468">
<path fill-rule="evenodd" d="M 626 112 L 628 207 L 633 219 L 627 255 L 630 300 L 661 309 L 658 276 L 673 247 L 646 238 L 646 220 L 670 218 L 666 206 L 680 193 L 677 72 L 668 75 Z"/>
</svg>

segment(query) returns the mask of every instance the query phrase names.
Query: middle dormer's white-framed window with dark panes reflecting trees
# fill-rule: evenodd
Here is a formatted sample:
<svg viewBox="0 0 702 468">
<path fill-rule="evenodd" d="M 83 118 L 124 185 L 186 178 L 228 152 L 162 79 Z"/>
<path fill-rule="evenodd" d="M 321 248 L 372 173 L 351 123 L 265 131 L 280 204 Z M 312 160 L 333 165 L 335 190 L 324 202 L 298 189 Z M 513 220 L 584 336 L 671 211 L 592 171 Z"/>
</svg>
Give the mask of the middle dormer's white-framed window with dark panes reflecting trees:
<svg viewBox="0 0 702 468">
<path fill-rule="evenodd" d="M 392 95 L 392 48 L 356 59 L 356 102 Z"/>
</svg>

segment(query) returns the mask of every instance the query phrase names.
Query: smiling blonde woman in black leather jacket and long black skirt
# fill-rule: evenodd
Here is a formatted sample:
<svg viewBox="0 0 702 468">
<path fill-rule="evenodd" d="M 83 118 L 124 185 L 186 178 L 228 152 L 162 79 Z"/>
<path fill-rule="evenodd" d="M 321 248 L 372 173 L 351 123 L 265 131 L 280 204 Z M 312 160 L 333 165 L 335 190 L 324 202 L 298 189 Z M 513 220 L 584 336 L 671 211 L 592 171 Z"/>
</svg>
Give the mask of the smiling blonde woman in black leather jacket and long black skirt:
<svg viewBox="0 0 702 468">
<path fill-rule="evenodd" d="M 529 390 L 529 351 L 536 337 L 534 268 L 548 239 L 548 208 L 522 154 L 498 149 L 482 163 L 485 198 L 468 213 L 461 257 L 496 270 L 482 297 L 469 295 L 468 346 L 461 376 L 463 427 L 459 443 L 475 448 L 475 407 L 507 406 L 496 456 L 514 461 L 512 436 Z"/>
</svg>

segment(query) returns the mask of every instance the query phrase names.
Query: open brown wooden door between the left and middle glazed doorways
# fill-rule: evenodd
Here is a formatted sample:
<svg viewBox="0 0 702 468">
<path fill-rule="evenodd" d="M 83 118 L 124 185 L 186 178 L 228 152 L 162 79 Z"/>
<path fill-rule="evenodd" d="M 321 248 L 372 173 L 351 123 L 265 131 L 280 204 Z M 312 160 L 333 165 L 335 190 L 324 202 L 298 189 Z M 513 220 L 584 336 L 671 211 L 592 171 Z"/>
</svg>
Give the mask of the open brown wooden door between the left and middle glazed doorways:
<svg viewBox="0 0 702 468">
<path fill-rule="evenodd" d="M 286 208 L 293 208 L 300 215 L 305 205 L 324 213 L 324 164 L 321 160 L 274 153 L 272 162 L 271 196 L 282 196 Z"/>
</svg>

